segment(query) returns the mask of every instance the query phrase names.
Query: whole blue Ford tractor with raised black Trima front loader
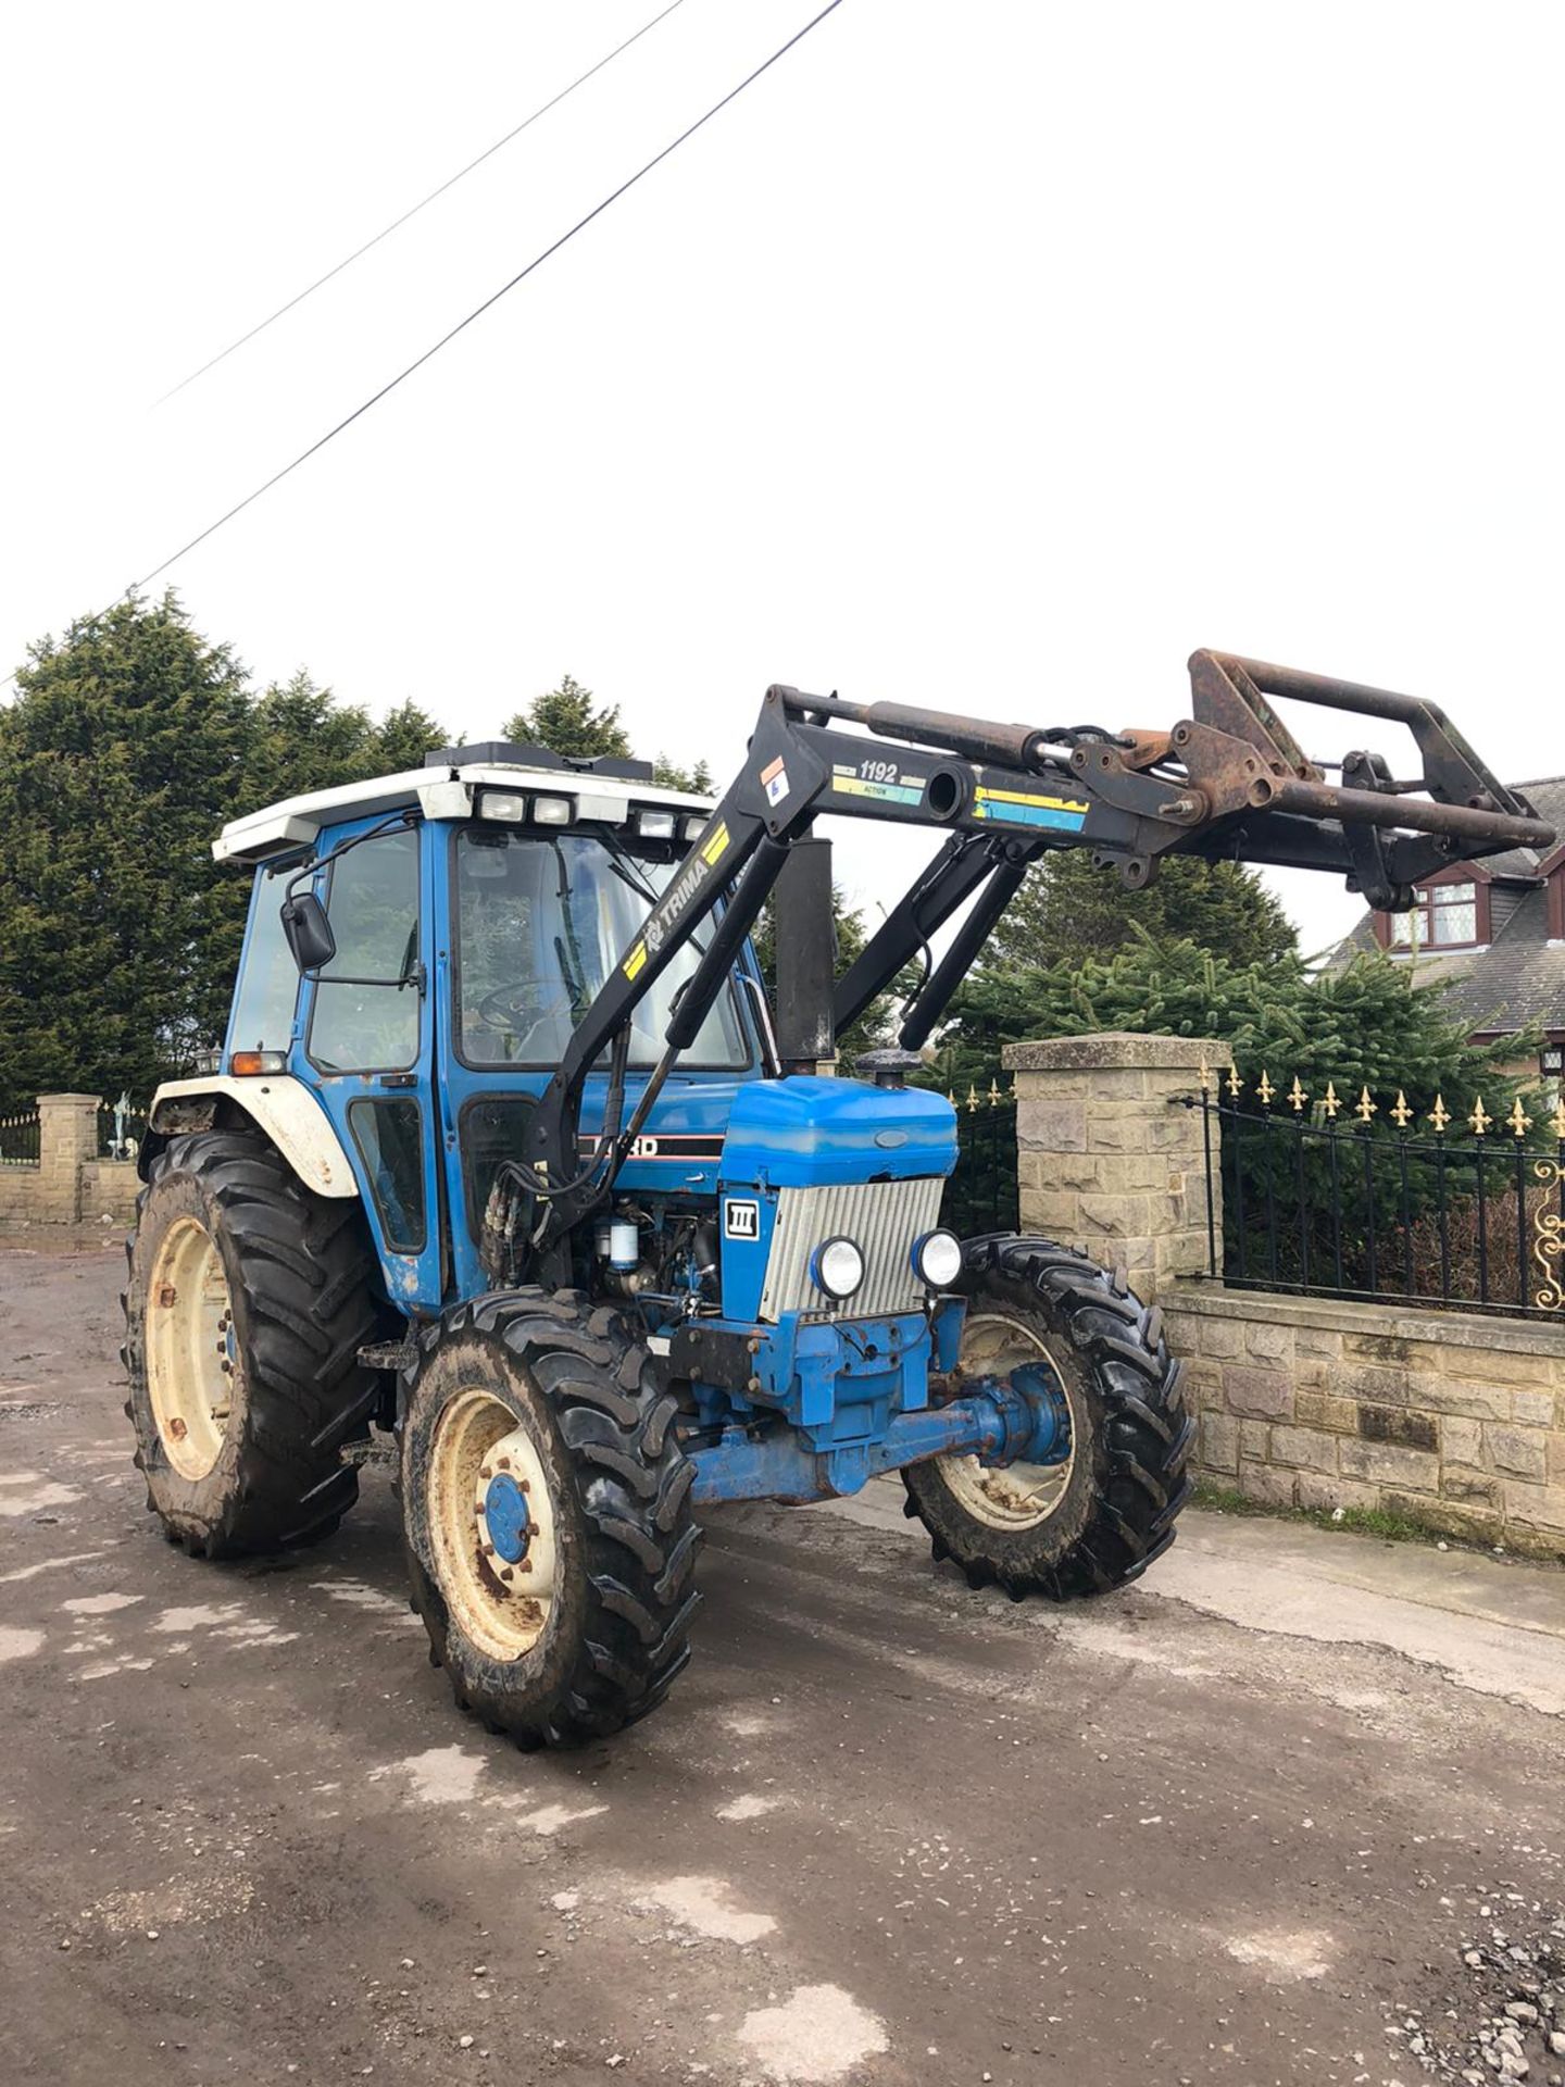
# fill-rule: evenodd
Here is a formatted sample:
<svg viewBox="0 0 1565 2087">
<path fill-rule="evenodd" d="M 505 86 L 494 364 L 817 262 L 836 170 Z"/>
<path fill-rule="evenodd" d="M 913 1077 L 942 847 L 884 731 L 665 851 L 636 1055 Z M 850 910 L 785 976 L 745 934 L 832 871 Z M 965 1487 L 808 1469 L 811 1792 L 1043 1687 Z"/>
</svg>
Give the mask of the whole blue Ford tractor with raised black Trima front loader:
<svg viewBox="0 0 1565 2087">
<path fill-rule="evenodd" d="M 920 1046 L 1052 847 L 1406 906 L 1444 860 L 1552 839 L 1427 703 L 1219 653 L 1191 685 L 1171 733 L 1118 735 L 774 687 L 716 806 L 490 743 L 230 824 L 255 891 L 221 1069 L 159 1089 L 129 1242 L 167 1534 L 326 1536 L 392 1430 L 432 1657 L 524 1745 L 661 1701 L 720 1501 L 899 1471 L 972 1586 L 1141 1574 L 1189 1490 L 1160 1315 L 1070 1246 L 943 1227 Z M 1277 695 L 1406 722 L 1421 783 L 1371 753 L 1327 783 Z M 841 979 L 822 814 L 943 835 Z M 920 954 L 897 1048 L 820 1077 Z"/>
</svg>

